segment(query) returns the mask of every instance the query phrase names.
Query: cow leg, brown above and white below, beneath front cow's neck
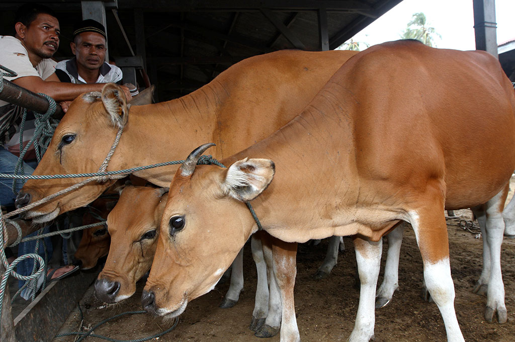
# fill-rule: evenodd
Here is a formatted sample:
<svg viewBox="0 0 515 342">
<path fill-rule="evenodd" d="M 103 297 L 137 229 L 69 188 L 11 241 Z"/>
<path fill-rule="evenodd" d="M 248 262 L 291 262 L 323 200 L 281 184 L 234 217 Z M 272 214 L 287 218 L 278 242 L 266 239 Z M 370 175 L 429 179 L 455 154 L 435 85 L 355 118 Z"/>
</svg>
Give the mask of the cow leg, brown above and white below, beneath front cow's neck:
<svg viewBox="0 0 515 342">
<path fill-rule="evenodd" d="M 297 244 L 271 237 L 273 273 L 281 291 L 281 342 L 299 342 L 300 334 L 295 316 L 294 287 L 297 276 Z"/>
</svg>

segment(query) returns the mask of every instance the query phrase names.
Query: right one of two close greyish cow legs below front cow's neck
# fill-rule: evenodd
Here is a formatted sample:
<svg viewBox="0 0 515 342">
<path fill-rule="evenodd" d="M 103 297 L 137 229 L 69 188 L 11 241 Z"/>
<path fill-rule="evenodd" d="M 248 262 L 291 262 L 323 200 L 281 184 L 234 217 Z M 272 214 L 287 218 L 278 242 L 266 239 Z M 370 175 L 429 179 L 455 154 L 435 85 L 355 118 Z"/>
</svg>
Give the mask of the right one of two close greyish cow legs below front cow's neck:
<svg viewBox="0 0 515 342">
<path fill-rule="evenodd" d="M 279 283 L 273 271 L 273 241 L 276 240 L 268 233 L 262 233 L 261 243 L 263 255 L 268 269 L 268 286 L 270 289 L 268 300 L 268 315 L 261 328 L 256 330 L 257 337 L 272 337 L 277 335 L 281 328 L 282 303 Z"/>
</svg>

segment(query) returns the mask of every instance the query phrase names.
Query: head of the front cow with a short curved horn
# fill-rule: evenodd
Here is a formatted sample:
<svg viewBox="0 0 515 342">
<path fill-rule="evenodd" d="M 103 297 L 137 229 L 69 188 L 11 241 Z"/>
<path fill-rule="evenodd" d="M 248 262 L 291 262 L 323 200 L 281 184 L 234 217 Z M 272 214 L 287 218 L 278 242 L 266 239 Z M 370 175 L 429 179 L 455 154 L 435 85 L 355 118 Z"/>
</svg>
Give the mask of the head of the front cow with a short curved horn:
<svg viewBox="0 0 515 342">
<path fill-rule="evenodd" d="M 153 314 L 180 315 L 188 301 L 215 286 L 256 227 L 244 201 L 273 178 L 273 162 L 265 159 L 244 159 L 229 168 L 199 165 L 193 172 L 206 146 L 192 152 L 171 183 L 142 296 Z"/>
</svg>

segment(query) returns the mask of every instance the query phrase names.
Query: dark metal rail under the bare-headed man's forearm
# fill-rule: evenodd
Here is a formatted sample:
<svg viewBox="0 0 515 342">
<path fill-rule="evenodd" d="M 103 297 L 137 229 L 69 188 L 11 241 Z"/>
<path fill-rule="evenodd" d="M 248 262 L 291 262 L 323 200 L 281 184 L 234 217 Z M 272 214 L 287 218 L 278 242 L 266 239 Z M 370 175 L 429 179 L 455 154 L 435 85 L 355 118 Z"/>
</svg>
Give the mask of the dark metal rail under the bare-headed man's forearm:
<svg viewBox="0 0 515 342">
<path fill-rule="evenodd" d="M 6 79 L 4 81 L 4 90 L 0 92 L 0 100 L 4 100 L 13 105 L 24 107 L 38 113 L 45 113 L 48 110 L 48 100 L 28 89 L 22 88 L 13 82 Z M 60 119 L 64 115 L 61 106 L 57 106 L 56 112 L 53 115 L 55 118 Z"/>
</svg>

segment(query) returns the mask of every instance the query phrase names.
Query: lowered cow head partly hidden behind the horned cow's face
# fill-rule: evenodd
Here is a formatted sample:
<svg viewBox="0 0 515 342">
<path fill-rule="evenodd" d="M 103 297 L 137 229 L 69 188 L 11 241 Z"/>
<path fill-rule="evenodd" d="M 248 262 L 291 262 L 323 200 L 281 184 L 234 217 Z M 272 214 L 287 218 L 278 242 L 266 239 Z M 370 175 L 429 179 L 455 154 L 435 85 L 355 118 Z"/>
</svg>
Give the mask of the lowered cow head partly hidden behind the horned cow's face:
<svg viewBox="0 0 515 342">
<path fill-rule="evenodd" d="M 95 282 L 97 298 L 114 303 L 132 296 L 136 282 L 150 269 L 168 189 L 127 186 L 107 224 L 111 246 Z"/>
</svg>

